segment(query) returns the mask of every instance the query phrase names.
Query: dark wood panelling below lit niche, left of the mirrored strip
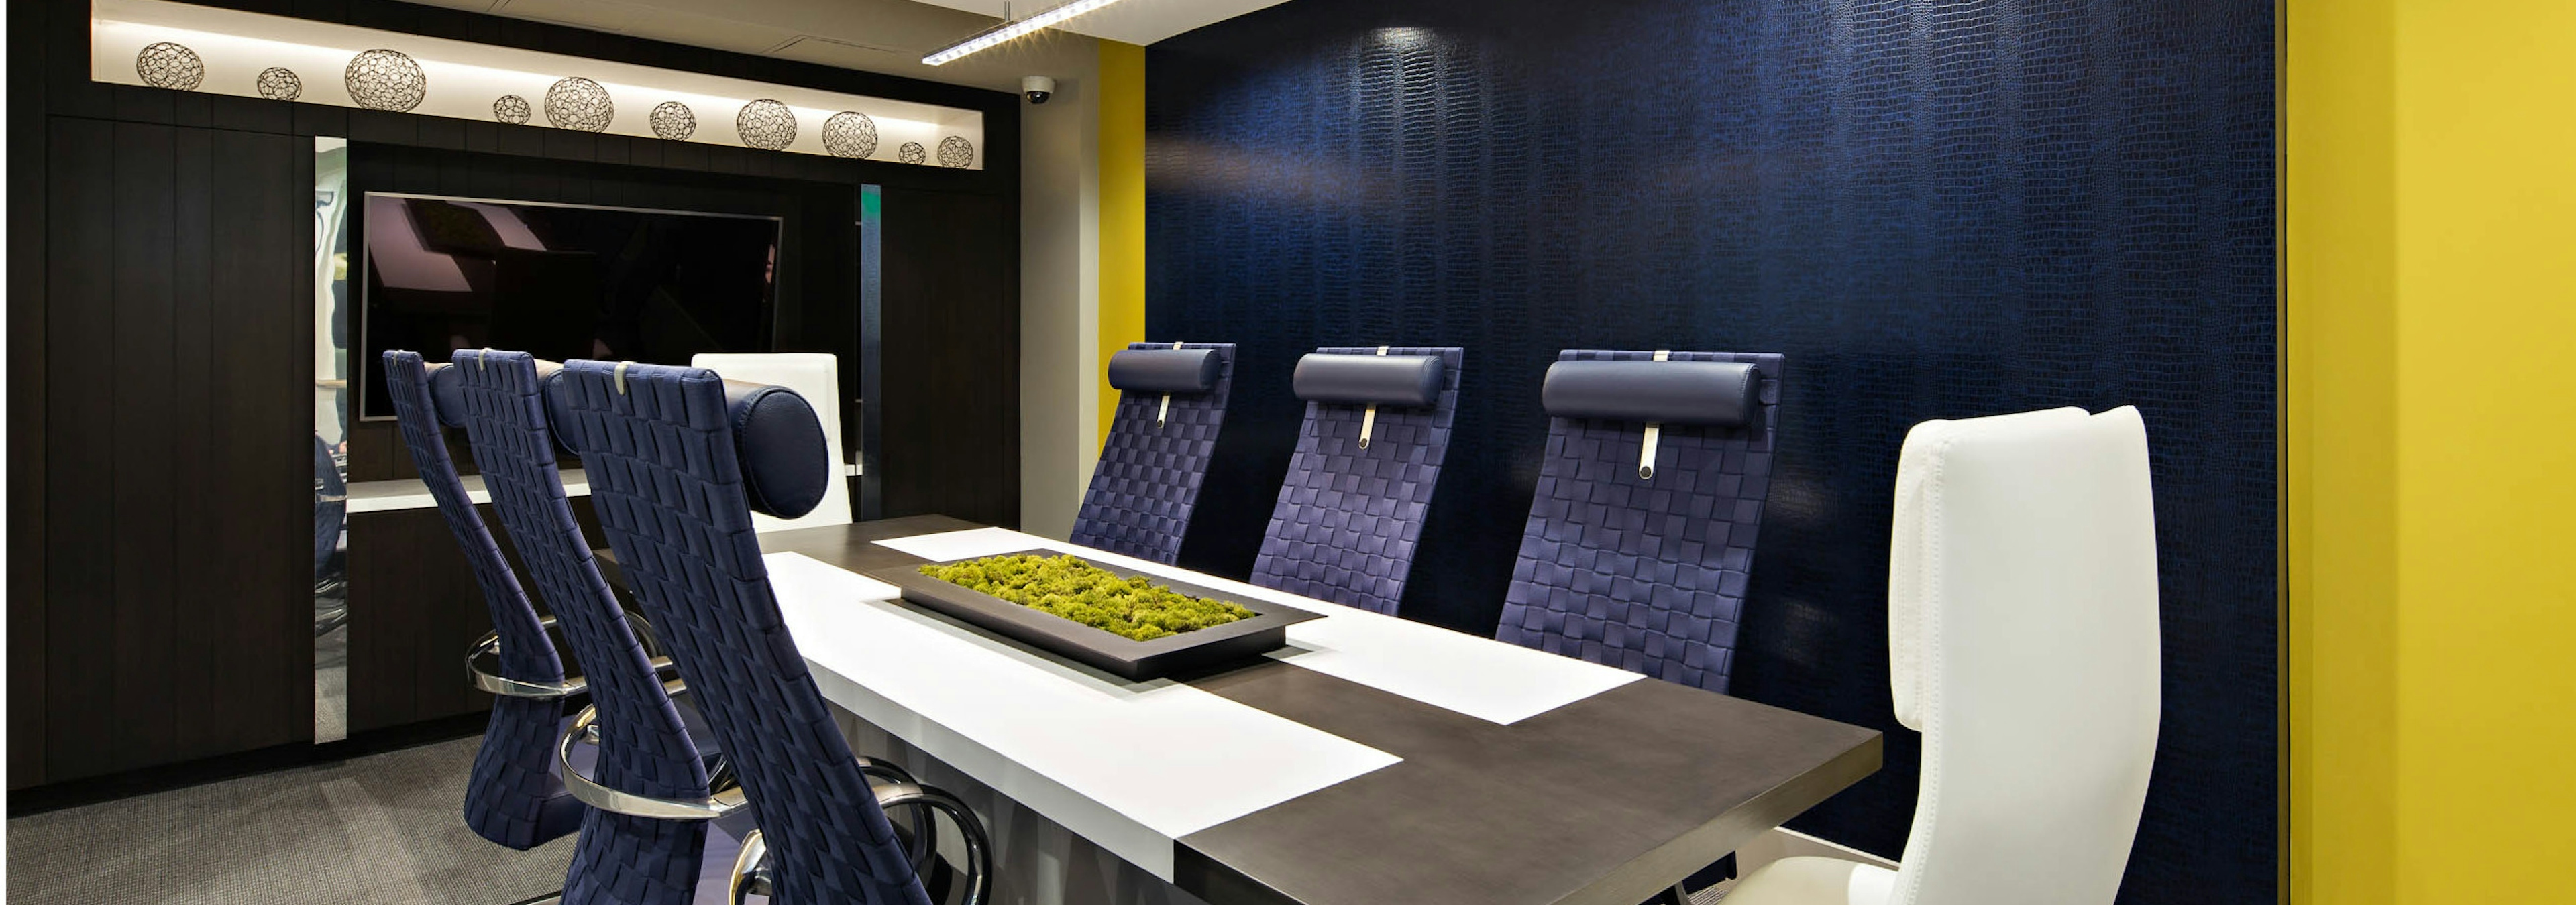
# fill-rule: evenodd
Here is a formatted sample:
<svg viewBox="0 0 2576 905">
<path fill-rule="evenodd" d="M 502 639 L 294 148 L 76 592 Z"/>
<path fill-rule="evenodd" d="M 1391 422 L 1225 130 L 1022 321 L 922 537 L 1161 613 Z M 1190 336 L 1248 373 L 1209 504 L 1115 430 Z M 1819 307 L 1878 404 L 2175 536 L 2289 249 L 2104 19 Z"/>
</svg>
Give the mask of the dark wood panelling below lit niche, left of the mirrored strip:
<svg viewBox="0 0 2576 905">
<path fill-rule="evenodd" d="M 41 776 L 312 738 L 312 141 L 52 118 Z M 21 607 L 23 602 L 13 602 Z"/>
</svg>

